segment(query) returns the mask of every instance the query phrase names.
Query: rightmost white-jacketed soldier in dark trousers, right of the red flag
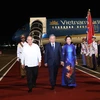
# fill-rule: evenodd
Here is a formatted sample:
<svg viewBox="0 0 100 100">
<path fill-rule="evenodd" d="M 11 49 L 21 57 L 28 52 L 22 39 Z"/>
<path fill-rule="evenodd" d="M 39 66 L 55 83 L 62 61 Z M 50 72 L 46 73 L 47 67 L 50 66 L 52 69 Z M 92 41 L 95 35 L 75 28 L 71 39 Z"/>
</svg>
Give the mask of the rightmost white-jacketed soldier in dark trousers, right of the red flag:
<svg viewBox="0 0 100 100">
<path fill-rule="evenodd" d="M 95 41 L 96 40 L 96 37 L 93 36 L 92 37 L 93 39 L 93 42 L 91 43 L 90 45 L 90 56 L 92 57 L 92 65 L 93 65 L 93 70 L 96 70 L 97 69 L 97 54 L 98 54 L 98 46 L 97 46 L 97 42 Z"/>
</svg>

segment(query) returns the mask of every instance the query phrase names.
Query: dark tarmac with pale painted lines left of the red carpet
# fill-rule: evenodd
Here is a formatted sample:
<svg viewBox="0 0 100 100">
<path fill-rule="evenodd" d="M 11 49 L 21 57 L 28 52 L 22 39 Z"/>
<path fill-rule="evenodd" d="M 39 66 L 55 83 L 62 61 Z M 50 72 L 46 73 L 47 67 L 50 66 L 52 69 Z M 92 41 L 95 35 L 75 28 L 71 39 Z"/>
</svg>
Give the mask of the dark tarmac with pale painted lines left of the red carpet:
<svg viewBox="0 0 100 100">
<path fill-rule="evenodd" d="M 0 54 L 0 78 L 5 73 L 7 74 L 9 68 L 16 61 L 16 49 L 15 48 L 4 48 L 2 54 Z"/>
</svg>

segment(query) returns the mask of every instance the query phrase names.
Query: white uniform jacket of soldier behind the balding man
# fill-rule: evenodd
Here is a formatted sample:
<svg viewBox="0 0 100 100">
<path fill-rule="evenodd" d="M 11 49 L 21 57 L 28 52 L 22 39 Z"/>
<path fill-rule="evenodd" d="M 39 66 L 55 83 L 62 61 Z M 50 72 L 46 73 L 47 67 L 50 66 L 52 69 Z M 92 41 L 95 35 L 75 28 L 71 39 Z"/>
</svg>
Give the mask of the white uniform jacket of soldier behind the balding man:
<svg viewBox="0 0 100 100">
<path fill-rule="evenodd" d="M 17 45 L 17 60 L 21 59 L 23 47 L 26 44 L 27 44 L 27 42 L 20 42 L 20 43 L 18 43 L 18 45 Z"/>
</svg>

